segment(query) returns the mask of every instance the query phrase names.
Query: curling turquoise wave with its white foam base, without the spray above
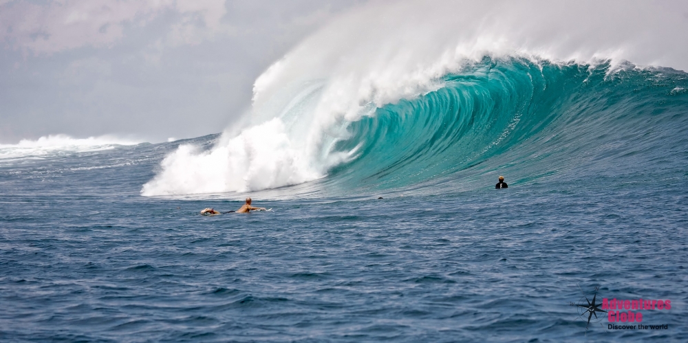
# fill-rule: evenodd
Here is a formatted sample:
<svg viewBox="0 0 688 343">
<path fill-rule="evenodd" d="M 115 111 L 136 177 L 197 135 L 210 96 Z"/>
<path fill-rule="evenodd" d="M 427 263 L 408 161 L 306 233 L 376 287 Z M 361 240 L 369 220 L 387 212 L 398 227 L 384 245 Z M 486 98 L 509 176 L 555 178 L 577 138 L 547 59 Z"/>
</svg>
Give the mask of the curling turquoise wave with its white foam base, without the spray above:
<svg viewBox="0 0 688 343">
<path fill-rule="evenodd" d="M 298 115 L 312 113 L 309 103 L 322 96 L 322 87 L 306 87 L 279 118 L 221 139 L 208 151 L 181 146 L 144 186 L 144 195 L 261 190 L 312 180 L 281 192 L 437 193 L 490 186 L 497 174 L 523 185 L 634 177 L 657 163 L 680 173 L 686 162 L 688 76 L 682 71 L 486 56 L 436 82 L 441 86 L 422 96 L 330 124 L 311 152 L 299 137 L 307 136 L 303 128 L 312 120 Z M 218 161 L 224 168 L 213 166 Z M 184 175 L 205 177 L 193 189 L 184 186 L 198 181 Z M 155 186 L 180 192 L 156 192 Z"/>
</svg>

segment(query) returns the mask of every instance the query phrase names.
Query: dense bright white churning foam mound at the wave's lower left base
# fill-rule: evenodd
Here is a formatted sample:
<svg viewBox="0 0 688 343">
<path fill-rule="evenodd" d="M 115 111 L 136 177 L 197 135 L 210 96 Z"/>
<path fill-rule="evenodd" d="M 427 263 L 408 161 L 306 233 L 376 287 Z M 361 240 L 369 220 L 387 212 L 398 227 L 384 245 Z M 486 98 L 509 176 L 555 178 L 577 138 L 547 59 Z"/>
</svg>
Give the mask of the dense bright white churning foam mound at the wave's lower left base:
<svg viewBox="0 0 688 343">
<path fill-rule="evenodd" d="M 246 192 L 275 188 L 323 176 L 303 149 L 290 142 L 279 118 L 242 131 L 209 151 L 191 144 L 162 161 L 162 171 L 143 186 L 142 195 Z"/>
</svg>

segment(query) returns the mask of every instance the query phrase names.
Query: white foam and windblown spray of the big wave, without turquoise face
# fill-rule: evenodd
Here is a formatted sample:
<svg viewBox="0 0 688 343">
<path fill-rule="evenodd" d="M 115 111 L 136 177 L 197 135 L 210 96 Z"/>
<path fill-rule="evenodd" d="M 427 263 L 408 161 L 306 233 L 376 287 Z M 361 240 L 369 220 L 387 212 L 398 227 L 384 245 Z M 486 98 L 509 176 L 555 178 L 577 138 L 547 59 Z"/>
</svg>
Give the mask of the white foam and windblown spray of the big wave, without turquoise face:
<svg viewBox="0 0 688 343">
<path fill-rule="evenodd" d="M 181 146 L 142 195 L 243 192 L 323 177 L 356 157 L 356 148 L 334 148 L 349 137 L 350 123 L 440 89 L 444 76 L 485 56 L 610 63 L 610 72 L 635 67 L 627 60 L 688 69 L 688 45 L 680 43 L 688 21 L 677 6 L 686 7 L 667 1 L 363 6 L 305 39 L 257 78 L 246 126 L 226 131 L 211 151 Z"/>
</svg>

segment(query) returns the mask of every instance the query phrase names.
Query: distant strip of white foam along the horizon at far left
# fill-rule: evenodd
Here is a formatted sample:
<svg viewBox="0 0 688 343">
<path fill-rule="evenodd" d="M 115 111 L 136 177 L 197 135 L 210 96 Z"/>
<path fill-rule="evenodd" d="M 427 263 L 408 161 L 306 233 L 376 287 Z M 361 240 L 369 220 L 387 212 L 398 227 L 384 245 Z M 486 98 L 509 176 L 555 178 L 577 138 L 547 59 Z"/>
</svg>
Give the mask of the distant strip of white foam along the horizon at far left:
<svg viewBox="0 0 688 343">
<path fill-rule="evenodd" d="M 139 140 L 123 139 L 113 135 L 87 138 L 74 138 L 62 134 L 47 135 L 37 140 L 21 140 L 18 144 L 0 144 L 0 159 L 47 157 L 64 152 L 100 151 L 140 143 Z"/>
</svg>

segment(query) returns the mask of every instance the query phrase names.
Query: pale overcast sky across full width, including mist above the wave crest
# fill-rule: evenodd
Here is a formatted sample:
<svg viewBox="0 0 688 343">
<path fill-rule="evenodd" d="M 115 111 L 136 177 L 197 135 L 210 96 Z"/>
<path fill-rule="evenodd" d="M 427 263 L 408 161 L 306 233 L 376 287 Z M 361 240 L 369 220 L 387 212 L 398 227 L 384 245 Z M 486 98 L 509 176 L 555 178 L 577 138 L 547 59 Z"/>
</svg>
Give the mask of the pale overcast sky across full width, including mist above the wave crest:
<svg viewBox="0 0 688 343">
<path fill-rule="evenodd" d="M 457 40 L 688 70 L 685 32 L 685 0 L 0 0 L 0 144 L 219 133 L 249 109 L 256 78 L 311 34 L 283 74 L 329 72 L 347 56 L 363 70 L 400 51 L 408 65 L 383 58 L 372 73 L 400 77 Z"/>
</svg>

